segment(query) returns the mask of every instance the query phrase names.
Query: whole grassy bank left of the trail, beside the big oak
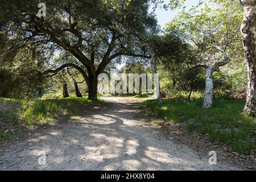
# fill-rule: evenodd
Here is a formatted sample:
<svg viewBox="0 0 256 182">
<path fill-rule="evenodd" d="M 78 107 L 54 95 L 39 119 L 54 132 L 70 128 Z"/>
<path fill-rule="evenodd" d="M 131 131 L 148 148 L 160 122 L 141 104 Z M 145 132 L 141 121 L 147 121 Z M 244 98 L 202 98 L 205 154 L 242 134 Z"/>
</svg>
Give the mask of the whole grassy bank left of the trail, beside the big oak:
<svg viewBox="0 0 256 182">
<path fill-rule="evenodd" d="M 85 114 L 103 102 L 77 97 L 33 101 L 0 98 L 0 144 L 19 137 L 30 126 L 40 127 Z"/>
</svg>

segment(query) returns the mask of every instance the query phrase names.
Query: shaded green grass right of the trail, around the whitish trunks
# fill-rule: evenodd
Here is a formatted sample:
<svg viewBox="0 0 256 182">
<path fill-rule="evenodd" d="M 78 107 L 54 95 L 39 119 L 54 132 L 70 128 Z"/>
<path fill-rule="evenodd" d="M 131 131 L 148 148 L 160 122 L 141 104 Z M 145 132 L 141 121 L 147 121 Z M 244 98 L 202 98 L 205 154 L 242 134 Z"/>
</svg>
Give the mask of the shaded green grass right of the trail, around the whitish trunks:
<svg viewBox="0 0 256 182">
<path fill-rule="evenodd" d="M 160 107 L 155 100 L 142 103 L 142 109 L 154 111 L 168 122 L 186 122 L 188 131 L 208 134 L 210 140 L 232 146 L 233 151 L 245 154 L 256 147 L 256 124 L 241 111 L 242 100 L 216 100 L 212 109 L 202 109 L 203 100 L 164 100 Z"/>
</svg>

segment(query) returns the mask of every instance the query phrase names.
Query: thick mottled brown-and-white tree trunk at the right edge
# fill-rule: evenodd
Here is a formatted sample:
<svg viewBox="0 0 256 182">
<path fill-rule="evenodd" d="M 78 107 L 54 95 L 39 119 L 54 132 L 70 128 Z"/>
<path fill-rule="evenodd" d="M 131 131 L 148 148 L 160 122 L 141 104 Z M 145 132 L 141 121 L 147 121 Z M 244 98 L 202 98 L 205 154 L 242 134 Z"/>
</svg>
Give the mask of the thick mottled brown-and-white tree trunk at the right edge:
<svg viewBox="0 0 256 182">
<path fill-rule="evenodd" d="M 241 2 L 244 9 L 241 32 L 248 78 L 246 104 L 243 112 L 254 116 L 256 113 L 256 1 L 241 0 Z"/>
</svg>

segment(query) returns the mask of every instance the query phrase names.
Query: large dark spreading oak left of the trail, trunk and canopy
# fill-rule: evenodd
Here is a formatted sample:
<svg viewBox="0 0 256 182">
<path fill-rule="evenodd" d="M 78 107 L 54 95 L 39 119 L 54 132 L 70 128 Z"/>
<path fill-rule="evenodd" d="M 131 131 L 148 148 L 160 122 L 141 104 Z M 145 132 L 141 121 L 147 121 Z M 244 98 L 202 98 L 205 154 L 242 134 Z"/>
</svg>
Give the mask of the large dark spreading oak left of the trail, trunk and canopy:
<svg viewBox="0 0 256 182">
<path fill-rule="evenodd" d="M 1 36 L 11 48 L 30 43 L 48 70 L 72 67 L 84 77 L 89 98 L 97 99 L 97 76 L 120 56 L 150 57 L 133 41 L 143 42 L 158 31 L 148 1 L 46 1 L 46 17 L 38 17 L 37 1 L 3 1 Z M 129 37 L 130 40 L 127 40 Z M 56 56 L 63 61 L 56 63 Z M 72 60 L 65 57 L 72 56 Z M 55 63 L 55 64 L 52 64 Z M 54 65 L 53 67 L 51 65 Z"/>
</svg>

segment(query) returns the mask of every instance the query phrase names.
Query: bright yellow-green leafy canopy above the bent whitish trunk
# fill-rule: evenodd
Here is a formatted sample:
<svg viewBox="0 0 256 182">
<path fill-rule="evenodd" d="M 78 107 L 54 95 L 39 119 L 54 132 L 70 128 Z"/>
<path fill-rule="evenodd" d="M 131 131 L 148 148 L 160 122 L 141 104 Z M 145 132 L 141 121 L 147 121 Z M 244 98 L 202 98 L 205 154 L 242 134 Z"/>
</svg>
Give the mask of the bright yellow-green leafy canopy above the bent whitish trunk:
<svg viewBox="0 0 256 182">
<path fill-rule="evenodd" d="M 242 46 L 242 14 L 237 1 L 210 0 L 207 3 L 199 3 L 188 11 L 181 11 L 168 24 L 166 34 L 175 30 L 200 52 L 219 52 L 216 47 L 221 47 L 229 53 Z"/>
</svg>

